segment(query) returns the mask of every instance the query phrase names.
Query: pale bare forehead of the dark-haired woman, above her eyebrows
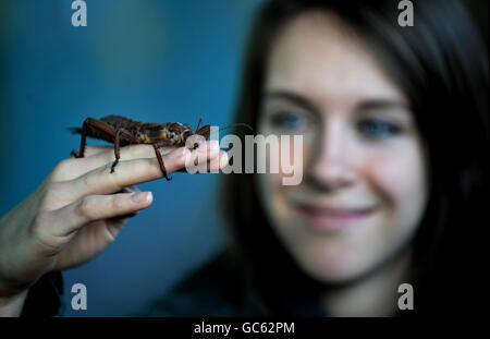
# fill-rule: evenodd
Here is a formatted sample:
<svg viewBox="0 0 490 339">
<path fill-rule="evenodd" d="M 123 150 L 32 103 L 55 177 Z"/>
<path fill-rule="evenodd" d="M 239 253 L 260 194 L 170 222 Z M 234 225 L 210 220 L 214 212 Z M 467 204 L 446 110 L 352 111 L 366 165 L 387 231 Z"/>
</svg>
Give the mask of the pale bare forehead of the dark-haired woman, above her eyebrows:
<svg viewBox="0 0 490 339">
<path fill-rule="evenodd" d="M 383 98 L 406 102 L 373 51 L 333 14 L 307 12 L 292 20 L 271 46 L 266 90 L 290 90 L 352 102 Z"/>
</svg>

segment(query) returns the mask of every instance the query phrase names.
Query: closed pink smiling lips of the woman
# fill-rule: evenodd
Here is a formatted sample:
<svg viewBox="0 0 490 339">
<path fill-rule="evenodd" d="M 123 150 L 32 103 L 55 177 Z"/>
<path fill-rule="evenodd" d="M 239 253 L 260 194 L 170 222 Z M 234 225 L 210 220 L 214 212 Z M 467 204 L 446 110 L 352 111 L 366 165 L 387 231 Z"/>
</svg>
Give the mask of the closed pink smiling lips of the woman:
<svg viewBox="0 0 490 339">
<path fill-rule="evenodd" d="M 308 225 L 327 231 L 340 231 L 358 225 L 376 210 L 375 207 L 339 208 L 308 204 L 296 204 L 295 209 L 308 220 Z"/>
</svg>

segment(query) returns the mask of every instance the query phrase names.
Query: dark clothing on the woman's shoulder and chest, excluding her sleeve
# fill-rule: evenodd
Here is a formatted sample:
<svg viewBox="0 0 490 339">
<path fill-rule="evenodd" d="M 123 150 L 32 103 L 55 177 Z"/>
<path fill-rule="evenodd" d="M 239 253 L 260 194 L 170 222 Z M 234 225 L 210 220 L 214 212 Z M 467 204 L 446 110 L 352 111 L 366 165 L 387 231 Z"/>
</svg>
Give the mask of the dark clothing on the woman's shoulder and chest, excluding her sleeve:
<svg viewBox="0 0 490 339">
<path fill-rule="evenodd" d="M 283 295 L 284 315 L 324 316 L 316 300 Z M 166 298 L 154 303 L 149 316 L 267 316 L 255 293 L 246 288 L 243 268 L 224 252 L 191 275 Z"/>
</svg>

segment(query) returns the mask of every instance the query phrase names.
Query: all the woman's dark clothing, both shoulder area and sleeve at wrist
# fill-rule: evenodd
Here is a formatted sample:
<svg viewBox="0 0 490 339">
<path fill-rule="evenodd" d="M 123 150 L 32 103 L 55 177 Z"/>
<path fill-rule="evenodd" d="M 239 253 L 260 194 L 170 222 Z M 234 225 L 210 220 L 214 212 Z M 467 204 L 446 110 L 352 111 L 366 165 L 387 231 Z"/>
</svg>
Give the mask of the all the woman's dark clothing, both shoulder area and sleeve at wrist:
<svg viewBox="0 0 490 339">
<path fill-rule="evenodd" d="M 229 252 L 223 252 L 152 303 L 143 316 L 269 315 L 246 288 L 243 271 Z M 61 315 L 61 274 L 46 275 L 30 288 L 22 316 Z M 315 299 L 287 294 L 279 302 L 282 315 L 324 316 Z"/>
</svg>

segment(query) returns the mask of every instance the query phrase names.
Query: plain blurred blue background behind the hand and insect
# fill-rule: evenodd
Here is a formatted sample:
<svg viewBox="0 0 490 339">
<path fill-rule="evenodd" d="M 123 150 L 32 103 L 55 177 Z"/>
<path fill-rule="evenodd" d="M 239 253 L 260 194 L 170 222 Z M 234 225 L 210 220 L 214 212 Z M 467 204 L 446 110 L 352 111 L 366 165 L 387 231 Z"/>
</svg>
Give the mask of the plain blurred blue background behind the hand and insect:
<svg viewBox="0 0 490 339">
<path fill-rule="evenodd" d="M 78 146 L 65 128 L 87 117 L 192 126 L 199 117 L 232 120 L 259 0 L 87 0 L 87 27 L 72 26 L 71 3 L 0 2 L 0 216 Z M 140 314 L 217 253 L 226 239 L 220 175 L 179 173 L 140 185 L 154 204 L 101 255 L 64 273 L 64 314 Z M 87 311 L 71 310 L 76 282 L 87 287 Z"/>
</svg>

